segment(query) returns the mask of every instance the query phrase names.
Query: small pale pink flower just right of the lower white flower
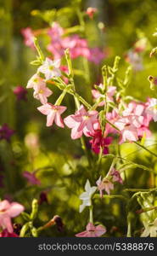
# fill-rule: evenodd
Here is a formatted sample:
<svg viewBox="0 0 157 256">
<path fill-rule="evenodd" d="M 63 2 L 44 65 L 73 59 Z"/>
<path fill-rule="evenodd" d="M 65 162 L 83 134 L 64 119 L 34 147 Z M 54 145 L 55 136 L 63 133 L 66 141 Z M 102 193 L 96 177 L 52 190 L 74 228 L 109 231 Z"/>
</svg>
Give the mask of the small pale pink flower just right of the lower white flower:
<svg viewBox="0 0 157 256">
<path fill-rule="evenodd" d="M 98 181 L 96 182 L 98 185 L 98 190 L 100 192 L 100 197 L 103 197 L 103 190 L 107 192 L 107 194 L 110 194 L 110 190 L 114 189 L 114 184 L 109 181 L 107 177 L 104 177 L 103 180 L 101 180 L 101 176 L 98 178 Z"/>
</svg>

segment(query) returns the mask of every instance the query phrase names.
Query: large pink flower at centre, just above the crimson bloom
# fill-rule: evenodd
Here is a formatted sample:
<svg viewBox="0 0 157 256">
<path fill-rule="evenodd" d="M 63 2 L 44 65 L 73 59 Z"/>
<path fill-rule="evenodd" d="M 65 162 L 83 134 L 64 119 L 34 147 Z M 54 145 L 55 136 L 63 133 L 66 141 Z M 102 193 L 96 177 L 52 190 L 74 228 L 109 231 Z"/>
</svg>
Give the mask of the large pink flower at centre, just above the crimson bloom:
<svg viewBox="0 0 157 256">
<path fill-rule="evenodd" d="M 76 111 L 75 114 L 71 114 L 64 119 L 65 125 L 71 128 L 71 138 L 77 139 L 84 135 L 90 136 L 90 133 L 94 132 L 95 127 L 98 126 L 98 112 L 86 111 L 83 105 Z M 96 129 L 96 128 L 95 128 Z M 97 128 L 98 129 L 98 128 Z"/>
</svg>

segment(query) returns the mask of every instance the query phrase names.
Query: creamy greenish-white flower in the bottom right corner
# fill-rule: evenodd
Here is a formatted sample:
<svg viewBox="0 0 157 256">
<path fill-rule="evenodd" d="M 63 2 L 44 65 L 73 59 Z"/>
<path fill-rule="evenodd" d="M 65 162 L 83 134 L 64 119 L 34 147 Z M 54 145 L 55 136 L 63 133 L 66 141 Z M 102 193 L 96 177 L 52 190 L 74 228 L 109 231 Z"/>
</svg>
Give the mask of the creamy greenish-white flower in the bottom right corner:
<svg viewBox="0 0 157 256">
<path fill-rule="evenodd" d="M 153 223 L 144 224 L 145 230 L 141 237 L 157 237 L 157 218 L 154 219 Z"/>
</svg>

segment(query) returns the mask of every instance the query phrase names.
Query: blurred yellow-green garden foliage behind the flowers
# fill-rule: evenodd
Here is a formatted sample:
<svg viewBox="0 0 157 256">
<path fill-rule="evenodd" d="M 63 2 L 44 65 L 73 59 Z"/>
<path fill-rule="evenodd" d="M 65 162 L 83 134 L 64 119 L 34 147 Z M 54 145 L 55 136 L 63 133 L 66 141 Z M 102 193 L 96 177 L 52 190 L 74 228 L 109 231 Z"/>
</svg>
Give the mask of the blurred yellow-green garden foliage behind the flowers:
<svg viewBox="0 0 157 256">
<path fill-rule="evenodd" d="M 44 224 L 53 215 L 59 214 L 65 228 L 62 234 L 52 228 L 43 232 L 42 236 L 74 236 L 85 229 L 87 212 L 78 212 L 78 196 L 91 173 L 79 140 L 70 139 L 70 130 L 58 129 L 55 125 L 46 127 L 46 117 L 37 111 L 39 102 L 32 97 L 31 90 L 25 92 L 22 99 L 14 93 L 19 85 L 25 88 L 28 79 L 36 73 L 36 67 L 30 64 L 36 58 L 36 50 L 25 45 L 21 30 L 26 27 L 31 27 L 33 31 L 44 30 L 53 21 L 59 22 L 64 29 L 76 26 L 79 24 L 76 6 L 83 12 L 87 7 L 98 9 L 93 19 L 85 15 L 86 30 L 84 34 L 80 32 L 80 36 L 87 38 L 91 47 L 102 49 L 105 55 L 97 65 L 85 63 L 83 57 L 73 61 L 74 67 L 81 70 L 76 73 L 76 84 L 82 96 L 92 102 L 91 88 L 101 81 L 101 67 L 104 64 L 113 65 L 115 55 L 121 56 L 120 78 L 123 78 L 126 67 L 132 64 L 132 79 L 126 93 L 138 100 L 146 101 L 152 96 L 148 76 L 156 75 L 156 57 L 149 58 L 150 50 L 157 44 L 152 36 L 157 26 L 155 0 L 0 0 L 0 125 L 8 124 L 14 130 L 10 143 L 0 141 L 0 198 L 19 201 L 29 212 L 31 200 L 46 195 L 48 201 L 42 201 L 36 225 Z M 45 47 L 48 38 L 42 35 L 38 40 L 44 54 L 51 56 Z M 132 51 L 139 41 L 144 50 L 133 56 Z M 59 91 L 54 92 L 54 98 L 57 98 Z M 74 113 L 74 102 L 70 97 L 64 100 L 64 104 L 68 107 L 65 116 Z M 152 125 L 152 129 L 155 131 L 155 126 Z M 112 152 L 112 148 L 110 150 Z M 125 154 L 136 150 L 134 145 L 124 145 Z M 145 152 L 142 157 L 140 152 L 132 154 L 132 160 L 152 168 L 156 166 Z M 104 172 L 108 166 L 109 162 L 104 162 Z M 36 171 L 41 185 L 28 183 L 22 175 L 25 171 Z M 130 188 L 136 188 L 136 179 L 139 188 L 152 185 L 150 174 L 138 170 L 138 178 L 136 171 L 128 174 L 127 185 Z M 120 190 L 121 187 L 117 188 L 117 193 Z M 125 212 L 124 203 L 107 199 L 96 200 L 95 203 L 95 220 L 107 226 L 107 236 L 124 236 L 126 220 L 121 218 Z M 20 218 L 19 222 L 23 220 Z"/>
</svg>

